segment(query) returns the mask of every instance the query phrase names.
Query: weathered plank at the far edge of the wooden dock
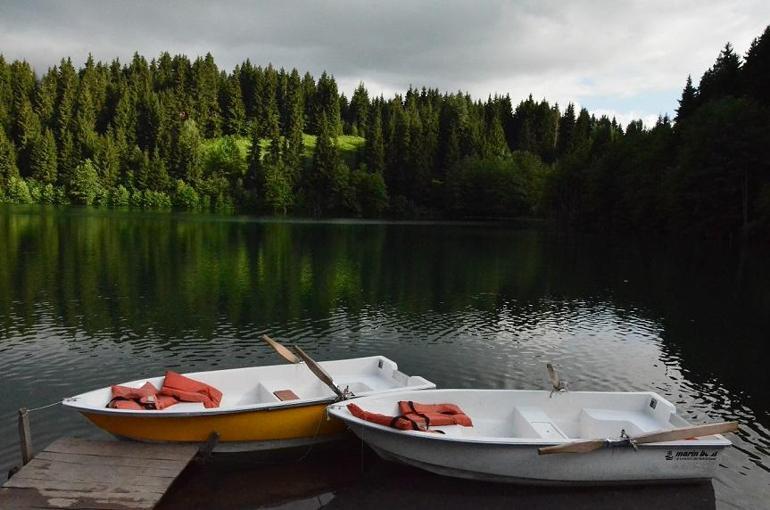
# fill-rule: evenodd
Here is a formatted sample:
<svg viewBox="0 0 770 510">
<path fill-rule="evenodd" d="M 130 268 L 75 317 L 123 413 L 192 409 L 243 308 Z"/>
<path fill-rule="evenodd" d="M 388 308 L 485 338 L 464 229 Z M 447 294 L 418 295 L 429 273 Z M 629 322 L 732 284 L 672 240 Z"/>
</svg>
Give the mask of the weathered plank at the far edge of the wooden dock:
<svg viewBox="0 0 770 510">
<path fill-rule="evenodd" d="M 130 457 L 158 460 L 189 460 L 198 452 L 195 445 L 150 444 L 128 441 L 89 441 L 65 437 L 48 445 L 45 451 L 77 453 L 99 457 Z"/>
</svg>

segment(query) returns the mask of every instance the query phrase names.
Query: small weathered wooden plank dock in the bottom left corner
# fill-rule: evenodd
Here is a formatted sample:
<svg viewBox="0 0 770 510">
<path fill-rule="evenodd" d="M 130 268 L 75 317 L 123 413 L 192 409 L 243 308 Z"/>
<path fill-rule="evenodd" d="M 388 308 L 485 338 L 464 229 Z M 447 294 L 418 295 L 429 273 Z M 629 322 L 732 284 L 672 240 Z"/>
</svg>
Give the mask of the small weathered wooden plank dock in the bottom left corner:
<svg viewBox="0 0 770 510">
<path fill-rule="evenodd" d="M 0 488 L 0 509 L 154 508 L 196 446 L 62 438 Z"/>
</svg>

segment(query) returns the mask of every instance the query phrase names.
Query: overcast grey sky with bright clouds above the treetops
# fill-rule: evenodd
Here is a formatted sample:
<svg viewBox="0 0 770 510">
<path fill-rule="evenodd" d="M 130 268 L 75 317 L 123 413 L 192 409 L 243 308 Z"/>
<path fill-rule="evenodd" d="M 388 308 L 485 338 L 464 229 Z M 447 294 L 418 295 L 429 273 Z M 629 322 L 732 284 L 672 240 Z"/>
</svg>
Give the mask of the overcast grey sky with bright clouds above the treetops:
<svg viewBox="0 0 770 510">
<path fill-rule="evenodd" d="M 359 81 L 386 96 L 410 84 L 532 93 L 625 123 L 672 113 L 688 74 L 697 82 L 728 41 L 744 54 L 768 24 L 769 0 L 3 0 L 0 53 L 40 73 L 89 52 L 210 51 L 227 69 L 246 58 L 325 69 L 348 94 Z"/>
</svg>

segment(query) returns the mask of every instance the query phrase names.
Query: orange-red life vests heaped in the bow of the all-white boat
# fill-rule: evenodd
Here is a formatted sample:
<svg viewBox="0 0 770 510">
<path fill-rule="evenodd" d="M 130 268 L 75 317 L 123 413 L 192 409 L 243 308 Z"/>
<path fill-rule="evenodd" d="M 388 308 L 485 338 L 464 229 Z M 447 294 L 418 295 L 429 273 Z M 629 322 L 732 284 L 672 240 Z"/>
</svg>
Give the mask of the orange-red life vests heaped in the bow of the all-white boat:
<svg viewBox="0 0 770 510">
<path fill-rule="evenodd" d="M 439 432 L 431 431 L 429 427 L 443 425 L 473 426 L 470 417 L 454 404 L 418 404 L 411 401 L 401 401 L 398 403 L 398 408 L 401 412 L 399 416 L 371 413 L 361 409 L 354 403 L 348 404 L 347 408 L 350 414 L 356 418 L 400 430 Z"/>
</svg>

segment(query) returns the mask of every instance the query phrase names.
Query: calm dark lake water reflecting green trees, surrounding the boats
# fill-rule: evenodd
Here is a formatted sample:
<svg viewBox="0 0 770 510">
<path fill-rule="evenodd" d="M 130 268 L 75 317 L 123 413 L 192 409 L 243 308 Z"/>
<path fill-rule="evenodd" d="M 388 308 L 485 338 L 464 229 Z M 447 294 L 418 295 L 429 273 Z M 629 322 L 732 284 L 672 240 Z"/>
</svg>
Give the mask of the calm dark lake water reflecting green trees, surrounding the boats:
<svg viewBox="0 0 770 510">
<path fill-rule="evenodd" d="M 545 389 L 553 361 L 573 390 L 653 390 L 695 422 L 743 425 L 713 488 L 538 492 L 447 481 L 354 445 L 299 466 L 189 475 L 190 487 L 232 494 L 234 473 L 249 474 L 237 487 L 260 495 L 239 492 L 232 508 L 447 494 L 465 508 L 554 508 L 554 494 L 556 508 L 770 508 L 768 260 L 531 226 L 0 208 L 0 468 L 19 462 L 19 407 L 165 368 L 279 363 L 259 341 L 267 332 L 320 360 L 383 354 L 441 387 Z M 100 435 L 60 407 L 33 413 L 32 427 L 37 446 Z M 287 479 L 299 488 L 264 497 Z"/>
</svg>

